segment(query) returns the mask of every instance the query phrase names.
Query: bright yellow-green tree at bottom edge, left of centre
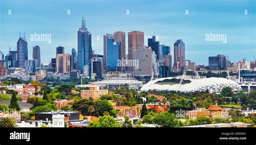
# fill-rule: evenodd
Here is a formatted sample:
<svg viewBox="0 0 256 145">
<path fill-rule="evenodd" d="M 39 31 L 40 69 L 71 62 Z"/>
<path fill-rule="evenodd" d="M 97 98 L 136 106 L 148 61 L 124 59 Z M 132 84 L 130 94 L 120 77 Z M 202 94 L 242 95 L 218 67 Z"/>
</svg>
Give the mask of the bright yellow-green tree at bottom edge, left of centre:
<svg viewBox="0 0 256 145">
<path fill-rule="evenodd" d="M 114 120 L 113 116 L 99 116 L 99 120 L 92 121 L 87 127 L 122 127 L 120 123 Z"/>
</svg>

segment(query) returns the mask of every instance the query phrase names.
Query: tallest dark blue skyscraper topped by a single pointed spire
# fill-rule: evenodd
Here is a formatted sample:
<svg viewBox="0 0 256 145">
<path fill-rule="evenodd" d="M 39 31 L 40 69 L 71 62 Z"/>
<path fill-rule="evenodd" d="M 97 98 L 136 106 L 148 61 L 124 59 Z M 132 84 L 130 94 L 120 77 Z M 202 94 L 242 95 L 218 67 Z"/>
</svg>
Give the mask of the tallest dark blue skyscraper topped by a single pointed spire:
<svg viewBox="0 0 256 145">
<path fill-rule="evenodd" d="M 87 30 L 85 19 L 82 18 L 82 25 L 77 31 L 77 47 L 78 47 L 78 70 L 83 72 L 83 67 L 89 65 L 92 58 L 91 33 Z M 90 70 L 89 70 L 90 73 Z M 89 74 L 90 75 L 90 74 Z"/>
</svg>

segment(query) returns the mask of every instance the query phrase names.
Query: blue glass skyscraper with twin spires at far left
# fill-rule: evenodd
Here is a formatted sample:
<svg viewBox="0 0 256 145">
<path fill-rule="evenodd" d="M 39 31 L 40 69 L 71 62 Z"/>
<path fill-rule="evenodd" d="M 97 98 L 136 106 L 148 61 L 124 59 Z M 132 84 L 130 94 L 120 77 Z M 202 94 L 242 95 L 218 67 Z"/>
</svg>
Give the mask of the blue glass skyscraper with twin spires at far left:
<svg viewBox="0 0 256 145">
<path fill-rule="evenodd" d="M 28 60 L 28 42 L 26 42 L 25 33 L 23 38 L 20 33 L 17 42 L 17 67 L 25 68 L 25 60 Z"/>
</svg>

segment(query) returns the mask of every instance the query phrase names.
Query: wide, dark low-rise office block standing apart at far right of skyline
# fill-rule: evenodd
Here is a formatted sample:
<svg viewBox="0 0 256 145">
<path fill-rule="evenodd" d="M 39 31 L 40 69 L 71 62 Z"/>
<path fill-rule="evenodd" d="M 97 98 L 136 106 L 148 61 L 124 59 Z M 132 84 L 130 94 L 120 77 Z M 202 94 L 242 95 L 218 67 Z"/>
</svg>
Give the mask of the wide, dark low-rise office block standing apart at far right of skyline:
<svg viewBox="0 0 256 145">
<path fill-rule="evenodd" d="M 210 70 L 225 70 L 228 67 L 226 63 L 230 63 L 229 57 L 222 54 L 217 57 L 209 57 L 208 62 Z"/>
</svg>

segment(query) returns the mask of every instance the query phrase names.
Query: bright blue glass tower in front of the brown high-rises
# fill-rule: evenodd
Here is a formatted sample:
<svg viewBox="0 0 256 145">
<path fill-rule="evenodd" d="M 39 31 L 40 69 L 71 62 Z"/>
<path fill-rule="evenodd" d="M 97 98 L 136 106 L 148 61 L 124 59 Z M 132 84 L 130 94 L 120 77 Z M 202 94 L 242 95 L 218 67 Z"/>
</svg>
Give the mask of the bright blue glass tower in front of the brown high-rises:
<svg viewBox="0 0 256 145">
<path fill-rule="evenodd" d="M 120 71 L 120 67 L 118 66 L 118 56 L 121 47 L 121 42 L 114 42 L 114 39 L 107 39 L 107 72 Z"/>
</svg>

